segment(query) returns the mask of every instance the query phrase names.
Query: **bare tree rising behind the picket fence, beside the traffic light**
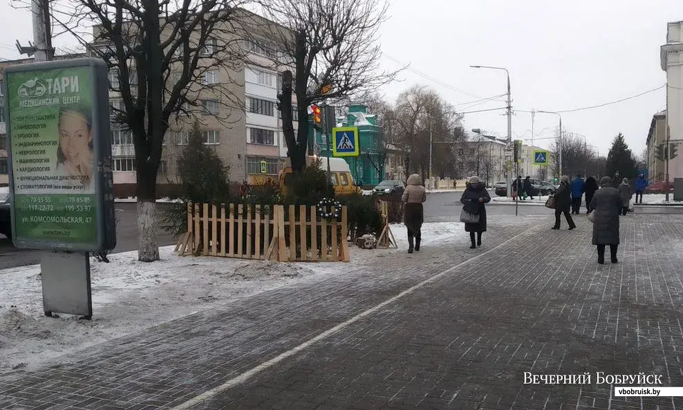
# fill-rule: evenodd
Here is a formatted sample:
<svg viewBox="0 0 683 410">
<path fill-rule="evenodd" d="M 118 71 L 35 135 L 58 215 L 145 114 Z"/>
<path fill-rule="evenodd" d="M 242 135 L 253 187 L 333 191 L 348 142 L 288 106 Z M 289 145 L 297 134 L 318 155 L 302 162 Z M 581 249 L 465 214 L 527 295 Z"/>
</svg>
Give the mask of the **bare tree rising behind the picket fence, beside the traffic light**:
<svg viewBox="0 0 683 410">
<path fill-rule="evenodd" d="M 281 48 L 284 71 L 279 95 L 283 133 L 292 171 L 306 166 L 308 106 L 339 102 L 366 89 L 379 88 L 395 73 L 380 70 L 379 28 L 386 19 L 384 0 L 268 0 L 274 21 L 269 37 Z M 292 93 L 297 97 L 299 130 L 294 135 Z"/>
</svg>

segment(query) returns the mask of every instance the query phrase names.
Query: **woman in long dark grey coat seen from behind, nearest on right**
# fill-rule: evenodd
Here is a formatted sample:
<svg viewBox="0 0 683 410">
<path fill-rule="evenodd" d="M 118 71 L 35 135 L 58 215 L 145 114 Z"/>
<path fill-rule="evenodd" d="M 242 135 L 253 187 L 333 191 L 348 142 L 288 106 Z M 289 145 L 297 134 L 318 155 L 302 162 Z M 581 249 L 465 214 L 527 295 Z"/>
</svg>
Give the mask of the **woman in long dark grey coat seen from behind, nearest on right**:
<svg viewBox="0 0 683 410">
<path fill-rule="evenodd" d="M 619 249 L 619 214 L 622 213 L 623 200 L 619 190 L 612 187 L 612 178 L 604 176 L 600 189 L 595 192 L 590 208 L 593 209 L 593 245 L 597 246 L 598 263 L 605 263 L 605 248 L 610 245 L 612 263 L 617 263 Z"/>
</svg>

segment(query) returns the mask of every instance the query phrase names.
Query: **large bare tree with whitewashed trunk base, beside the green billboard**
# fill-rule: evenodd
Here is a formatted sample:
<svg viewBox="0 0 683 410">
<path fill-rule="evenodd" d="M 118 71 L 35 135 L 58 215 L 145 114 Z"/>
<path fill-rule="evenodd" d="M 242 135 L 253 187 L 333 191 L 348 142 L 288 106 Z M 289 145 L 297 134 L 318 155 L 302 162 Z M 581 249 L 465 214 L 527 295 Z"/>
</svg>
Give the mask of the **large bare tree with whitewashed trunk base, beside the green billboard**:
<svg viewBox="0 0 683 410">
<path fill-rule="evenodd" d="M 113 72 L 111 91 L 122 101 L 113 114 L 135 146 L 140 261 L 159 259 L 156 177 L 171 123 L 178 114 L 199 112 L 227 121 L 226 106 L 243 107 L 230 91 L 230 73 L 243 61 L 241 1 L 53 2 L 53 20 Z"/>
</svg>

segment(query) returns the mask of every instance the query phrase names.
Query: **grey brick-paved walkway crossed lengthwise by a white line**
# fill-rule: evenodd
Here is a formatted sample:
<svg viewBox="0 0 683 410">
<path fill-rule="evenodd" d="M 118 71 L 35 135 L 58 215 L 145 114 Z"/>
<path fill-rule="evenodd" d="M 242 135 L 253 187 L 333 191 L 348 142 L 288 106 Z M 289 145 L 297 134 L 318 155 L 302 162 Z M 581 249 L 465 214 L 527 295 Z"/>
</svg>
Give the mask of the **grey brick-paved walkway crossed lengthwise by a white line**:
<svg viewBox="0 0 683 410">
<path fill-rule="evenodd" d="M 554 232 L 548 221 L 490 221 L 485 249 L 509 241 L 495 252 L 196 409 L 683 409 L 683 398 L 625 400 L 605 385 L 522 384 L 524 371 L 644 371 L 683 386 L 683 218 L 627 216 L 621 263 L 604 266 L 590 223 Z M 13 372 L 0 377 L 0 409 L 172 409 L 485 249 L 460 241 L 396 254 L 370 272 L 268 292 L 50 369 Z"/>
</svg>

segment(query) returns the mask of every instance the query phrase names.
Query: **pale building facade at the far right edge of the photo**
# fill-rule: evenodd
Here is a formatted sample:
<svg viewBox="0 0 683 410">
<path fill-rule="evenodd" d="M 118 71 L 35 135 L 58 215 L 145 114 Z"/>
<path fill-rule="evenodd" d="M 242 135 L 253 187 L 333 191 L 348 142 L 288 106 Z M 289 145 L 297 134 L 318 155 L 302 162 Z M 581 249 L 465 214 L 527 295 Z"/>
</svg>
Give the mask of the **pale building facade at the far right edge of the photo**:
<svg viewBox="0 0 683 410">
<path fill-rule="evenodd" d="M 680 151 L 683 149 L 683 21 L 667 24 L 666 44 L 660 48 L 660 63 L 666 72 L 665 123 L 668 124 L 671 144 L 677 144 Z M 668 173 L 670 180 L 683 178 L 681 154 L 669 160 Z"/>
</svg>

